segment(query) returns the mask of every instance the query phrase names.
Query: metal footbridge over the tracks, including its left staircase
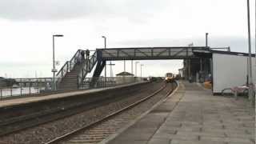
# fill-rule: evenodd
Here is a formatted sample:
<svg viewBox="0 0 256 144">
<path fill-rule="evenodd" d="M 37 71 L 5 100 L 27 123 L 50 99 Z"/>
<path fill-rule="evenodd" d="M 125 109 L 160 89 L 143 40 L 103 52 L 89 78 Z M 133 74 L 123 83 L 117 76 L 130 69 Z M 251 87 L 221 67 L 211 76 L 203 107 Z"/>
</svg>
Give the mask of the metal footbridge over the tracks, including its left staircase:
<svg viewBox="0 0 256 144">
<path fill-rule="evenodd" d="M 205 54 L 201 54 L 201 52 Z M 130 48 L 108 48 L 96 49 L 94 54 L 84 58 L 85 50 L 78 50 L 70 61 L 58 71 L 57 86 L 58 89 L 68 90 L 77 89 L 81 86 L 86 75 L 93 73 L 94 81 L 102 73 L 106 61 L 118 60 L 154 60 L 154 59 L 199 59 L 208 57 L 210 47 L 192 46 L 192 47 L 130 47 Z M 96 68 L 94 69 L 94 66 Z M 94 69 L 94 71 L 92 71 Z M 92 82 L 91 85 L 94 85 Z"/>
</svg>

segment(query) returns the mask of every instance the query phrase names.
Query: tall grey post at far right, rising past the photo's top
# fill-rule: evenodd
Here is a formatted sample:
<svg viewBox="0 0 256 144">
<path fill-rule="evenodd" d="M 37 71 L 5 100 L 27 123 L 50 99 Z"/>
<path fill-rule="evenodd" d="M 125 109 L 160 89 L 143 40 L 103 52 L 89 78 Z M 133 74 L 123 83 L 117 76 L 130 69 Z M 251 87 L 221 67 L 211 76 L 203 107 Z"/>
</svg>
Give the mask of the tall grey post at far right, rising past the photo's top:
<svg viewBox="0 0 256 144">
<path fill-rule="evenodd" d="M 249 91 L 248 96 L 253 104 L 253 81 L 252 81 L 252 67 L 251 67 L 251 45 L 250 45 L 250 1 L 247 0 L 247 24 L 248 24 L 248 52 L 249 52 Z"/>
</svg>

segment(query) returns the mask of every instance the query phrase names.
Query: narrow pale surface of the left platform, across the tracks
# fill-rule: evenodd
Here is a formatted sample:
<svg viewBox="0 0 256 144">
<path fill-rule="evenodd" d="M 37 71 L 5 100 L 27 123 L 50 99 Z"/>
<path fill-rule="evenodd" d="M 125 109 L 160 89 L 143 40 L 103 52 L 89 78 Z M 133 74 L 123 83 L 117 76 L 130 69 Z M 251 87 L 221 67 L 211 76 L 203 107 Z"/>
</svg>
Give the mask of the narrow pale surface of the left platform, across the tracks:
<svg viewBox="0 0 256 144">
<path fill-rule="evenodd" d="M 31 102 L 39 102 L 39 101 L 45 101 L 45 100 L 51 100 L 56 98 L 66 98 L 66 97 L 72 97 L 80 94 L 90 94 L 90 93 L 96 93 L 102 90 L 113 90 L 125 86 L 133 86 L 144 82 L 135 82 L 130 84 L 124 84 L 120 86 L 111 86 L 111 87 L 105 87 L 105 88 L 98 88 L 98 89 L 92 89 L 92 90 L 78 90 L 78 91 L 71 91 L 66 93 L 60 93 L 60 94 L 49 94 L 45 96 L 34 96 L 34 97 L 25 97 L 25 98 L 14 98 L 14 99 L 7 99 L 0 101 L 0 108 L 6 107 L 6 106 L 17 106 L 21 104 L 31 103 Z"/>
</svg>

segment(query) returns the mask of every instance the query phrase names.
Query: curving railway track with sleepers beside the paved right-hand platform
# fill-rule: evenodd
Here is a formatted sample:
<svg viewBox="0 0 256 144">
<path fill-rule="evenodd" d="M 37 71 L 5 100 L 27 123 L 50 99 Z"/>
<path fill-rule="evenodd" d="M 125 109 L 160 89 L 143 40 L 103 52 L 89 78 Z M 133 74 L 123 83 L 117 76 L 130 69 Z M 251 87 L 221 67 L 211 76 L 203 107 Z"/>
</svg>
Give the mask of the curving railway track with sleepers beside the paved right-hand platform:
<svg viewBox="0 0 256 144">
<path fill-rule="evenodd" d="M 108 114 L 106 115 L 106 117 L 99 119 L 97 122 L 92 122 L 68 134 L 64 134 L 58 138 L 54 138 L 50 142 L 46 142 L 46 144 L 102 142 L 103 139 L 107 138 L 111 134 L 114 134 L 122 126 L 125 126 L 131 120 L 137 118 L 140 114 L 145 112 L 145 110 L 148 110 L 146 106 L 146 109 L 139 110 L 140 106 L 143 107 L 143 104 L 146 105 L 146 102 L 150 103 L 150 100 L 159 101 L 162 98 L 166 98 L 174 90 L 174 87 L 174 83 L 166 84 L 165 86 L 162 86 L 159 90 L 155 91 L 154 94 L 150 94 L 145 98 L 142 98 L 137 102 L 134 102 L 129 106 L 122 108 L 121 110 L 117 110 L 112 114 Z M 156 96 L 158 96 L 158 98 Z M 136 108 L 138 110 L 136 110 Z"/>
</svg>

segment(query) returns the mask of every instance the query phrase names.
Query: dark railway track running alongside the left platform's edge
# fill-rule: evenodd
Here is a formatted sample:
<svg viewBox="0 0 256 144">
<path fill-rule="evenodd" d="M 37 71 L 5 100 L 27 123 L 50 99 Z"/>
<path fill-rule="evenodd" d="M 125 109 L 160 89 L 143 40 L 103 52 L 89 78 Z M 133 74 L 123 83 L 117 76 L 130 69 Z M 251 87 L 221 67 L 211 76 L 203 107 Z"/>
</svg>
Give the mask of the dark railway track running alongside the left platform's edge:
<svg viewBox="0 0 256 144">
<path fill-rule="evenodd" d="M 147 88 L 142 86 L 142 90 L 147 90 Z M 39 126 L 46 122 L 53 122 L 58 119 L 67 118 L 85 110 L 91 110 L 97 106 L 106 105 L 107 103 L 119 101 L 121 99 L 122 97 L 106 97 L 88 103 L 80 102 L 76 103 L 75 105 L 67 106 L 63 104 L 63 106 L 58 106 L 57 108 L 37 111 L 31 114 L 19 116 L 17 118 L 9 118 L 4 122 L 0 122 L 0 137 L 8 134 L 18 133 L 19 131 L 26 130 L 34 126 Z"/>
</svg>

